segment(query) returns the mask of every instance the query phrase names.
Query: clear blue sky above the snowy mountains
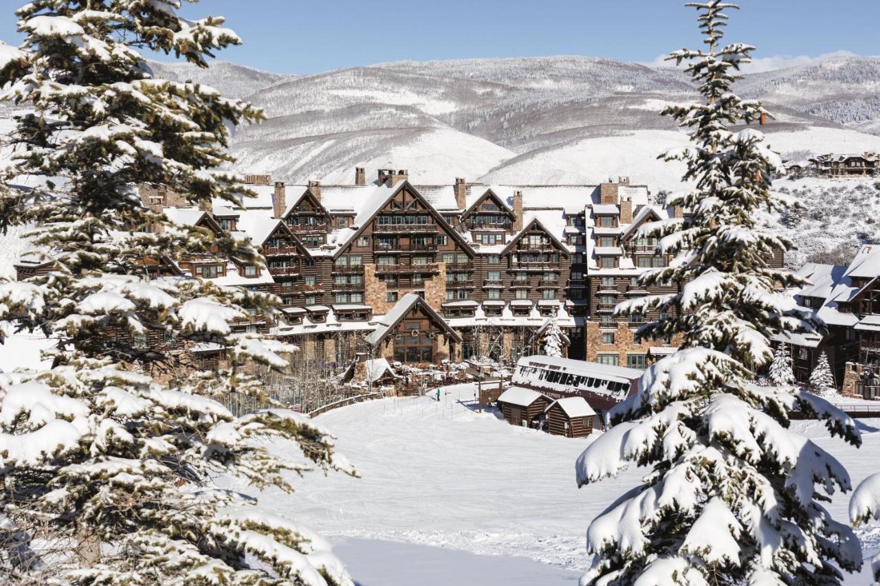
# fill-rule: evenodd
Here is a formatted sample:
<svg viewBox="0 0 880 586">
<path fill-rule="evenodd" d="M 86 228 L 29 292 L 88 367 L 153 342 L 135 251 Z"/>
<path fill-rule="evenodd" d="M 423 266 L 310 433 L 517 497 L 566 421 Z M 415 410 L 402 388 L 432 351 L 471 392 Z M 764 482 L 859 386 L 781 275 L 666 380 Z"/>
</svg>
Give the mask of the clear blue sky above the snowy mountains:
<svg viewBox="0 0 880 586">
<path fill-rule="evenodd" d="M 3 0 L 3 11 L 25 4 Z M 313 73 L 402 59 L 590 55 L 653 61 L 699 42 L 679 0 L 202 0 L 187 16 L 222 15 L 245 40 L 220 58 Z M 756 56 L 880 55 L 880 0 L 741 0 L 727 40 Z M 7 8 L 9 7 L 9 8 Z M 0 12 L 0 40 L 20 42 Z"/>
</svg>

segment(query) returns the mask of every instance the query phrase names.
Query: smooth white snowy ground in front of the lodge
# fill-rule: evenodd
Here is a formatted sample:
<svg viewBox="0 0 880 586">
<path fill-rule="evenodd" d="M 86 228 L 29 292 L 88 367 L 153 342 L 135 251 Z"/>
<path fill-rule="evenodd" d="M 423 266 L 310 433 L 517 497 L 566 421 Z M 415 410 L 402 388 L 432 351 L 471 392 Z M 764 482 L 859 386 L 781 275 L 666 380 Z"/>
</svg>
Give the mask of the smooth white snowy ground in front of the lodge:
<svg viewBox="0 0 880 586">
<path fill-rule="evenodd" d="M 362 478 L 307 475 L 296 494 L 267 493 L 261 504 L 334 538 L 363 586 L 416 583 L 392 560 L 430 568 L 435 582 L 419 583 L 576 583 L 590 519 L 642 472 L 578 490 L 575 459 L 590 440 L 511 427 L 494 413 L 473 412 L 472 401 L 473 385 L 455 385 L 439 403 L 384 399 L 321 415 Z M 854 482 L 880 469 L 880 421 L 862 422 L 861 450 L 828 437 L 818 422 L 794 425 L 840 458 Z M 831 509 L 845 519 L 847 497 Z M 876 551 L 880 531 L 865 536 Z M 516 582 L 523 573 L 534 579 Z M 847 583 L 866 583 L 864 576 Z"/>
</svg>

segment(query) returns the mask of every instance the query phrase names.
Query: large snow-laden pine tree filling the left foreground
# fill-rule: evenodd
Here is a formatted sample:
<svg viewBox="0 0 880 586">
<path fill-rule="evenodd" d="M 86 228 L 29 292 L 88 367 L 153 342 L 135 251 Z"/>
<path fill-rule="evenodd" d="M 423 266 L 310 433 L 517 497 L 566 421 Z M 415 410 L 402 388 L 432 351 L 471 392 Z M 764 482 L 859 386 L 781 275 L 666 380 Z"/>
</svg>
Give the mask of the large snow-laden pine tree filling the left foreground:
<svg viewBox="0 0 880 586">
<path fill-rule="evenodd" d="M 293 348 L 230 322 L 274 319 L 275 297 L 157 270 L 185 254 L 263 264 L 249 242 L 175 225 L 138 197 L 147 185 L 202 209 L 234 205 L 243 188 L 216 169 L 231 161 L 229 128 L 261 118 L 209 87 L 152 75 L 141 50 L 205 67 L 240 42 L 223 19 L 188 20 L 179 8 L 33 0 L 17 11 L 24 44 L 0 47 L 3 99 L 29 109 L 15 119 L 4 181 L 48 178 L 2 194 L 0 229 L 33 227 L 29 238 L 50 262 L 46 275 L 0 282 L 0 319 L 57 341 L 51 369 L 0 378 L 0 575 L 351 584 L 318 535 L 213 483 L 224 474 L 290 490 L 285 473 L 353 470 L 303 416 L 235 418 L 215 400 L 236 392 L 270 401 L 250 366 L 283 369 L 279 353 Z M 195 344 L 222 348 L 227 363 L 198 370 Z M 302 458 L 282 461 L 256 441 L 272 438 L 295 441 Z"/>
</svg>

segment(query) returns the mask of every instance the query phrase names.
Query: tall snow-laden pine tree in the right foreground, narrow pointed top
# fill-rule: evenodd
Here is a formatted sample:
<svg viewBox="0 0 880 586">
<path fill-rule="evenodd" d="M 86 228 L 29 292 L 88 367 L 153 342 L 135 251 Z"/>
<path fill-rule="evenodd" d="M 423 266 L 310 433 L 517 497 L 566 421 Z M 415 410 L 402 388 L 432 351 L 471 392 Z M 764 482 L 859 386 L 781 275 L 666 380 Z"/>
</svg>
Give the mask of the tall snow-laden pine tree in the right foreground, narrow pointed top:
<svg viewBox="0 0 880 586">
<path fill-rule="evenodd" d="M 761 230 L 759 210 L 784 209 L 771 192 L 781 160 L 753 128 L 766 116 L 731 91 L 752 47 L 719 48 L 732 4 L 687 4 L 699 11 L 706 48 L 671 55 L 702 103 L 665 114 L 692 144 L 668 152 L 686 162 L 695 187 L 671 196 L 683 218 L 650 226 L 667 254 L 686 262 L 657 268 L 643 284 L 673 282 L 678 292 L 634 299 L 620 313 L 654 310 L 670 317 L 643 326 L 642 338 L 680 335 L 678 352 L 654 365 L 638 391 L 609 414 L 612 428 L 578 458 L 578 485 L 627 465 L 651 467 L 641 486 L 622 494 L 590 524 L 594 554 L 584 584 L 840 584 L 838 568 L 862 564 L 858 539 L 824 502 L 851 488 L 847 471 L 825 450 L 788 429 L 787 411 L 826 421 L 833 434 L 859 444 L 846 414 L 793 387 L 759 387 L 755 373 L 772 358 L 779 331 L 815 329 L 774 287 L 796 279 L 762 259 L 788 241 Z"/>
</svg>

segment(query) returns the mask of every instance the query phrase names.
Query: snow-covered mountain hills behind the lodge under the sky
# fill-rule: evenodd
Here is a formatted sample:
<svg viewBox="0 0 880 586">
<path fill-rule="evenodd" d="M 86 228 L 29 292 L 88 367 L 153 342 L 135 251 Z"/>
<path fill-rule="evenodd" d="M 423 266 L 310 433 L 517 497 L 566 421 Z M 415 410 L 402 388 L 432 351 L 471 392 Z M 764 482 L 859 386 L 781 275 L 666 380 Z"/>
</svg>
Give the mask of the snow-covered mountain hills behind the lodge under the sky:
<svg viewBox="0 0 880 586">
<path fill-rule="evenodd" d="M 880 137 L 864 132 L 875 124 L 869 93 L 878 83 L 880 59 L 831 57 L 754 74 L 739 91 L 774 113 L 765 128 L 774 147 L 803 157 L 880 150 Z M 686 136 L 659 114 L 692 96 L 680 70 L 612 59 L 379 63 L 285 77 L 251 93 L 269 120 L 239 128 L 232 150 L 243 171 L 297 182 L 351 181 L 365 165 L 406 168 L 421 182 L 629 175 L 673 188 L 680 170 L 656 157 Z M 876 109 L 880 128 L 880 102 Z"/>
</svg>

